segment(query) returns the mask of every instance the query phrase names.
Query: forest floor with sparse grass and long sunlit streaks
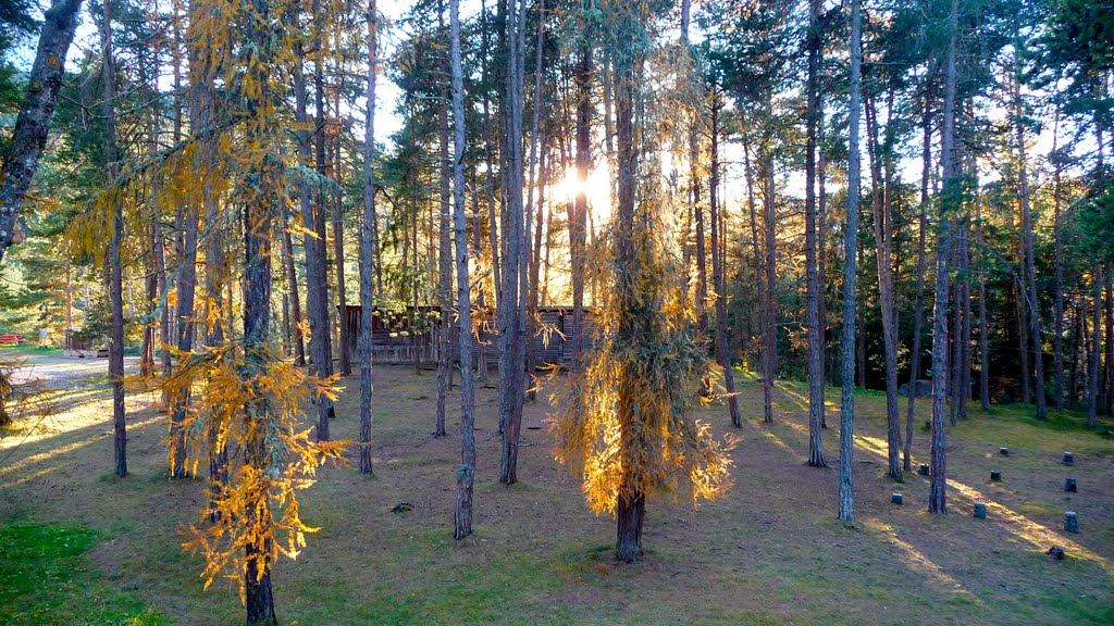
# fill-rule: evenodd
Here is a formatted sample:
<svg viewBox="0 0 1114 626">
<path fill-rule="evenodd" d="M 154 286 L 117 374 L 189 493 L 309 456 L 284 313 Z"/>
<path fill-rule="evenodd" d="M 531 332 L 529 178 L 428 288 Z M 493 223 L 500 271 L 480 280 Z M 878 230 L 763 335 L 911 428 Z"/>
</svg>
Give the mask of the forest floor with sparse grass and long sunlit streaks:
<svg viewBox="0 0 1114 626">
<path fill-rule="evenodd" d="M 131 475 L 115 478 L 100 381 L 67 391 L 63 412 L 0 432 L 0 623 L 242 624 L 235 584 L 203 590 L 199 557 L 180 548 L 205 483 L 167 479 L 166 415 L 154 397 L 129 398 Z M 359 378 L 342 384 L 333 434 L 355 439 Z M 477 398 L 476 532 L 455 541 L 458 400 L 449 437 L 431 438 L 434 385 L 433 372 L 375 369 L 375 475 L 329 468 L 303 493 L 303 518 L 321 531 L 275 568 L 284 625 L 1114 623 L 1108 418 L 1087 430 L 1075 412 L 1038 423 L 1024 407 L 973 410 L 948 433 L 951 512 L 931 516 L 926 478 L 886 478 L 886 399 L 860 393 L 858 524 L 848 528 L 836 518 L 839 390 L 828 392 L 831 468 L 815 469 L 805 466 L 807 388 L 779 382 L 776 421 L 764 426 L 761 387 L 744 380 L 742 430 L 722 404 L 701 415 L 739 438 L 734 487 L 698 509 L 683 496 L 649 501 L 647 554 L 622 565 L 614 522 L 588 510 L 554 461 L 545 391 L 526 408 L 520 482 L 497 481 L 490 382 Z M 927 462 L 928 409 L 918 402 L 915 463 Z M 1068 450 L 1074 468 L 1061 462 Z M 1001 482 L 989 482 L 993 469 Z M 1068 476 L 1078 493 L 1064 492 Z M 905 505 L 890 503 L 895 491 Z M 988 519 L 971 517 L 975 500 Z M 413 510 L 391 512 L 401 502 Z M 1078 535 L 1063 532 L 1066 510 Z M 1065 560 L 1045 556 L 1053 545 Z"/>
</svg>

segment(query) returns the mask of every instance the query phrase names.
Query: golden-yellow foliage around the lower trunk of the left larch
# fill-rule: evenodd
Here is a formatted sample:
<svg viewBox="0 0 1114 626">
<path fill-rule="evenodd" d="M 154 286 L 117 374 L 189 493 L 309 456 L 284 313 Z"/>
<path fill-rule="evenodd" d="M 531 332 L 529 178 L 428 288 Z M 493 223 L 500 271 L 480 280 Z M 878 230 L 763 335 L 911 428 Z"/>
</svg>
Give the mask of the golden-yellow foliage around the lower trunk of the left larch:
<svg viewBox="0 0 1114 626">
<path fill-rule="evenodd" d="M 297 491 L 314 483 L 323 463 L 345 463 L 346 441 L 314 442 L 310 430 L 299 430 L 302 408 L 312 395 L 334 395 L 335 378 L 306 376 L 270 348 L 254 359 L 231 343 L 175 356 L 179 366 L 163 383 L 172 398 L 201 387 L 183 423 L 187 462 L 196 470 L 218 450 L 240 452 L 229 454 L 228 479 L 213 485 L 211 506 L 202 511 L 215 521 L 188 526 L 183 547 L 204 556 L 206 588 L 225 576 L 243 596 L 246 555 L 257 561 L 256 573 L 278 556 L 297 558 L 305 536 L 316 530 L 301 518 Z M 169 446 L 174 459 L 174 438 Z"/>
</svg>

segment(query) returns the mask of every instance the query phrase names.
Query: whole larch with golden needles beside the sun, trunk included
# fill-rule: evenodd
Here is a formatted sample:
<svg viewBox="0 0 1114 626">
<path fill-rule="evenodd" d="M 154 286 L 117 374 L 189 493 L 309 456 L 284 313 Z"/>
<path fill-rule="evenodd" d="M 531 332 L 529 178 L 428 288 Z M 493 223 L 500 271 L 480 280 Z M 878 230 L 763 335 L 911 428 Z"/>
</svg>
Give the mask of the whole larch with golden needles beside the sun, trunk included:
<svg viewBox="0 0 1114 626">
<path fill-rule="evenodd" d="M 639 172 L 642 110 L 638 85 L 649 46 L 648 9 L 610 0 L 602 10 L 615 25 L 615 105 L 618 164 L 613 229 L 612 288 L 599 313 L 600 336 L 570 383 L 551 423 L 557 459 L 583 473 L 596 512 L 616 518 L 616 556 L 642 555 L 646 498 L 683 486 L 713 499 L 729 486 L 731 460 L 710 427 L 687 417 L 707 375 L 707 356 L 692 335 L 680 274 L 653 174 Z M 639 188 L 641 187 L 641 188 Z"/>
</svg>

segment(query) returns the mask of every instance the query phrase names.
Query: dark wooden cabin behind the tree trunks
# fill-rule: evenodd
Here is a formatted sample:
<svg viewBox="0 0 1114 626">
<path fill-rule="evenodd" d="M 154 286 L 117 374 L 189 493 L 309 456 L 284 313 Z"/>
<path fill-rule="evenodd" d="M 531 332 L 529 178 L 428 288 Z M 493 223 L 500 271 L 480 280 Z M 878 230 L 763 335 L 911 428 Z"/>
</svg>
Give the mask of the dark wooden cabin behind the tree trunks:
<svg viewBox="0 0 1114 626">
<path fill-rule="evenodd" d="M 348 333 L 349 345 L 359 345 L 360 320 L 362 310 L 360 305 L 346 305 L 344 311 L 345 332 Z M 595 335 L 595 324 L 592 321 L 592 310 L 585 307 L 583 321 L 583 332 L 585 339 L 583 345 L 587 348 L 592 344 Z M 372 362 L 373 363 L 437 363 L 440 355 L 440 319 L 441 309 L 438 306 L 407 306 L 404 309 L 380 309 L 372 312 L 371 336 L 372 336 Z M 538 366 L 547 364 L 567 364 L 571 350 L 573 336 L 577 331 L 573 324 L 571 306 L 539 306 L 538 319 L 540 326 L 534 336 L 534 350 Z M 452 360 L 460 358 L 460 342 L 457 339 L 457 325 L 453 320 L 452 338 Z M 475 322 L 475 320 L 473 320 Z M 479 320 L 479 333 L 477 343 L 472 351 L 472 362 L 486 363 L 488 368 L 495 366 L 499 362 L 499 338 L 498 324 L 495 312 L 490 312 Z M 481 354 L 482 351 L 482 354 Z M 353 352 L 354 354 L 354 352 Z"/>
</svg>

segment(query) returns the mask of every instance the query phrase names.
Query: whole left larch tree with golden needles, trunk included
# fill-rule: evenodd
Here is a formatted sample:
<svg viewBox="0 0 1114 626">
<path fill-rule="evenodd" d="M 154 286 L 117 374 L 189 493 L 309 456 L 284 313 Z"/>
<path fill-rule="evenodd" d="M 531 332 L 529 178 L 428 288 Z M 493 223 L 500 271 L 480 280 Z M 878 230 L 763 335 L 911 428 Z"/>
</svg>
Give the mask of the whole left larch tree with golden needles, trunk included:
<svg viewBox="0 0 1114 626">
<path fill-rule="evenodd" d="M 196 164 L 194 150 L 212 149 L 221 164 L 214 170 L 229 183 L 223 209 L 206 212 L 205 229 L 208 235 L 243 224 L 243 264 L 233 270 L 243 287 L 244 325 L 238 340 L 232 332 L 213 332 L 228 329 L 229 320 L 225 307 L 208 307 L 205 345 L 175 350 L 179 366 L 164 384 L 172 397 L 194 390 L 180 443 L 190 468 L 213 451 L 235 451 L 214 476 L 211 502 L 202 522 L 187 529 L 184 547 L 205 558 L 206 587 L 218 576 L 238 583 L 248 626 L 277 624 L 272 564 L 278 556 L 296 558 L 305 536 L 315 530 L 300 516 L 297 491 L 313 485 L 322 463 L 341 461 L 344 447 L 315 442 L 311 429 L 300 430 L 311 397 L 332 398 L 332 379 L 300 372 L 282 359 L 271 336 L 271 258 L 281 236 L 276 217 L 289 202 L 291 165 L 282 136 L 289 127 L 283 107 L 292 68 L 301 61 L 299 31 L 291 28 L 299 11 L 294 2 L 264 0 L 195 0 L 190 6 L 190 55 L 221 68 L 221 78 L 236 86 L 240 98 L 234 100 L 237 110 L 228 111 L 237 124 L 213 128 L 216 136 L 208 147 L 187 146 L 182 163 Z M 189 141 L 204 144 L 208 135 Z M 172 439 L 172 446 L 178 441 Z"/>
</svg>

